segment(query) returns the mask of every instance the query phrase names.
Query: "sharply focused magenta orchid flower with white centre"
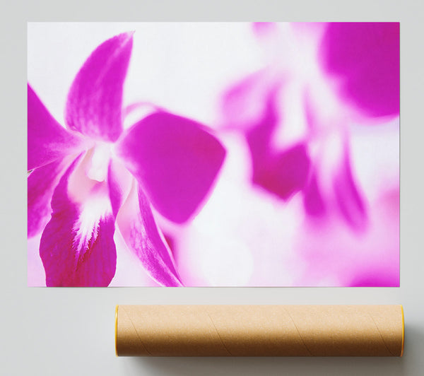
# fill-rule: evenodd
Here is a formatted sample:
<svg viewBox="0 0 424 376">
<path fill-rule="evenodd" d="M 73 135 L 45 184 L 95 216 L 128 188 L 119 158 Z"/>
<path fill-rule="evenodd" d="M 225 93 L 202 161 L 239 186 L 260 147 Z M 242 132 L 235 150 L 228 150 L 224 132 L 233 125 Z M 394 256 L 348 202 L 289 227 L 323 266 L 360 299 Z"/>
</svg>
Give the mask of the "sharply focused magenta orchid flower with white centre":
<svg viewBox="0 0 424 376">
<path fill-rule="evenodd" d="M 42 231 L 47 286 L 108 286 L 117 230 L 153 280 L 182 286 L 151 205 L 188 221 L 225 149 L 203 125 L 164 110 L 123 129 L 132 40 L 117 35 L 88 57 L 69 90 L 66 128 L 28 85 L 28 238 Z"/>
</svg>

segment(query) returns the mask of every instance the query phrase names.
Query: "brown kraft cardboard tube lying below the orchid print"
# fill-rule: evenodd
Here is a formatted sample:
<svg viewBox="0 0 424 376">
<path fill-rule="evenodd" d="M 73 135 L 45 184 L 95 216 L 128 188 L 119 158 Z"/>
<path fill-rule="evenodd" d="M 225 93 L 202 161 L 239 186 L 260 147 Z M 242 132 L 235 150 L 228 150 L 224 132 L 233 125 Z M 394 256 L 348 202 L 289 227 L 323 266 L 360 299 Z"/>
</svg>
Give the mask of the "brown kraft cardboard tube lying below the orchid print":
<svg viewBox="0 0 424 376">
<path fill-rule="evenodd" d="M 118 305 L 117 356 L 402 356 L 401 305 Z"/>
</svg>

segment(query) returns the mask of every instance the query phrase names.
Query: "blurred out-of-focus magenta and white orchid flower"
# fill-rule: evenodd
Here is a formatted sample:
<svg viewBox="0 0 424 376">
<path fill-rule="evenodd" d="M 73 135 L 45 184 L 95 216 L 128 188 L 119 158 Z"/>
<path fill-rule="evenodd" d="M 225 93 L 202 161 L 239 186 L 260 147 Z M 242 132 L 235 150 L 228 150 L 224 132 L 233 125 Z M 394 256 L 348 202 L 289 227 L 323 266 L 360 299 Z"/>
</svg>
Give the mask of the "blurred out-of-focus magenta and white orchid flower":
<svg viewBox="0 0 424 376">
<path fill-rule="evenodd" d="M 367 226 L 349 127 L 399 116 L 399 23 L 254 24 L 269 63 L 225 93 L 225 127 L 242 131 L 252 183 L 313 219 Z M 294 136 L 293 136 L 294 135 Z"/>
</svg>

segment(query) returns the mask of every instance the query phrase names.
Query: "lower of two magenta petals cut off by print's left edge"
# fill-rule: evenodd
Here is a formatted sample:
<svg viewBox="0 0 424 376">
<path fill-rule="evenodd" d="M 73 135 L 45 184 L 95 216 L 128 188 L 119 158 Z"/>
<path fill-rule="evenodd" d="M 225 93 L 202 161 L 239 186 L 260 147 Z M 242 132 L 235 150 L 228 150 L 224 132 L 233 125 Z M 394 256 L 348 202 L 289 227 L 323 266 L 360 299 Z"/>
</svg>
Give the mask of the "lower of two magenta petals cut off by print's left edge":
<svg viewBox="0 0 424 376">
<path fill-rule="evenodd" d="M 36 168 L 28 176 L 28 237 L 40 233 L 49 221 L 52 194 L 67 164 L 62 159 L 56 160 Z"/>
</svg>

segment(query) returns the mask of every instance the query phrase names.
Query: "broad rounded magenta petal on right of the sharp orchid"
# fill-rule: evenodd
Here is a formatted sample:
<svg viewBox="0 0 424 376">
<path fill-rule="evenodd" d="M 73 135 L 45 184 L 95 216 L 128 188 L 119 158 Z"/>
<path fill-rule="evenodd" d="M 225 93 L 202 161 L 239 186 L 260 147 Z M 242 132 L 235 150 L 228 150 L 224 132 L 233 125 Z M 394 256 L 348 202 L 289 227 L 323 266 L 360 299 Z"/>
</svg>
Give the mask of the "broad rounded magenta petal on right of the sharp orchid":
<svg viewBox="0 0 424 376">
<path fill-rule="evenodd" d="M 153 206 L 177 223 L 199 208 L 225 158 L 223 146 L 201 124 L 167 112 L 135 124 L 117 153 Z"/>
</svg>

